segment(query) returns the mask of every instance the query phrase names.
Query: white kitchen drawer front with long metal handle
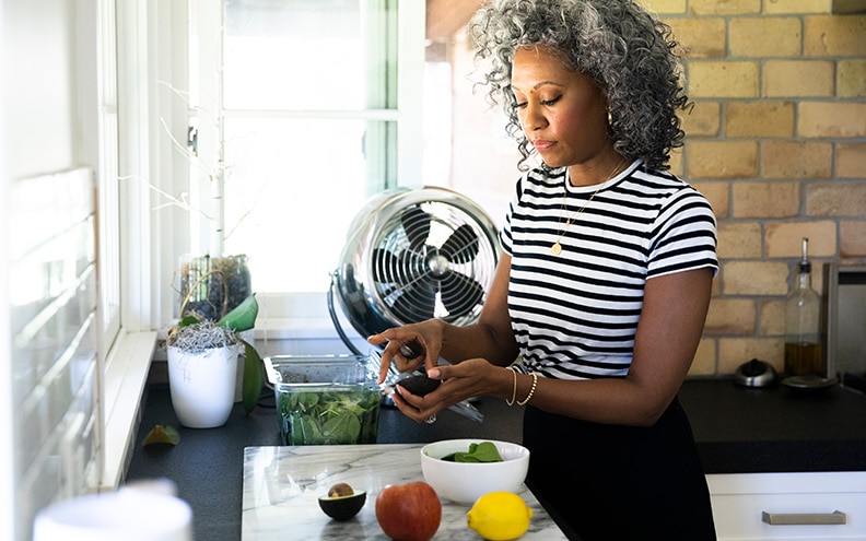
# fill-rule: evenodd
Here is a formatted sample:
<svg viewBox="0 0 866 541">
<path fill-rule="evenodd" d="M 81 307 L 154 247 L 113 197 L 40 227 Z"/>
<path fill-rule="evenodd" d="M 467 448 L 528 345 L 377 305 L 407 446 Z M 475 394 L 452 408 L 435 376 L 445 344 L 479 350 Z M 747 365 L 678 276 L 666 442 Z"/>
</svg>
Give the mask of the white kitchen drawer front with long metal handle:
<svg viewBox="0 0 866 541">
<path fill-rule="evenodd" d="M 866 539 L 866 471 L 706 477 L 719 541 Z"/>
</svg>

